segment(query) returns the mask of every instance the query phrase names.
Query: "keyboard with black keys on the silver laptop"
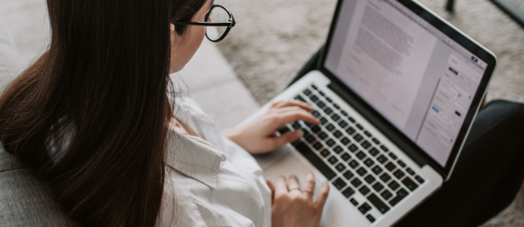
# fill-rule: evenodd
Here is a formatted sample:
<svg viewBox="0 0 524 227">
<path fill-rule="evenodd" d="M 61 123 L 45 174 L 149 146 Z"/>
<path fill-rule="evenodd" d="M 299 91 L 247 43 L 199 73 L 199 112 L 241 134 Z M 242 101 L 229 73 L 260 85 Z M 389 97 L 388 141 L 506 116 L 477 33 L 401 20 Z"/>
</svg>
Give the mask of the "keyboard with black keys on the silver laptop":
<svg viewBox="0 0 524 227">
<path fill-rule="evenodd" d="M 424 183 L 424 179 L 315 85 L 311 84 L 295 99 L 311 104 L 315 108 L 311 114 L 321 124 L 299 121 L 283 126 L 278 132 L 302 130 L 304 135 L 292 145 L 371 223 L 378 218 L 373 217 L 372 209 L 378 211 L 374 213 L 385 214 Z"/>
</svg>

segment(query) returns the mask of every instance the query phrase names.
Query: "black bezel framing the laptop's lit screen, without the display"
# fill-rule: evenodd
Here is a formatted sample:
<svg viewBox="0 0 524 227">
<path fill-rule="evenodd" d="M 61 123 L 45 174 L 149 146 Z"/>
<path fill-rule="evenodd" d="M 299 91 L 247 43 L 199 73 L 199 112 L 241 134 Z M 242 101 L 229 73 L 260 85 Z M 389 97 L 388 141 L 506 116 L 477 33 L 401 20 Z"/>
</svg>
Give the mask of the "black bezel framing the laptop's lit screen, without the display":
<svg viewBox="0 0 524 227">
<path fill-rule="evenodd" d="M 340 87 L 341 89 L 343 89 L 342 92 L 346 97 L 348 97 L 345 98 L 345 100 L 348 101 L 348 103 L 350 103 L 354 109 L 356 109 L 364 117 L 366 117 L 373 125 L 375 125 L 379 130 L 381 130 L 381 132 L 384 133 L 385 136 L 390 138 L 391 142 L 395 143 L 400 148 L 400 150 L 404 151 L 411 157 L 412 155 L 417 156 L 419 160 L 420 158 L 422 158 L 425 163 L 430 164 L 430 166 L 433 169 L 440 173 L 444 180 L 448 180 L 450 178 L 450 174 L 452 172 L 454 164 L 456 163 L 456 160 L 459 157 L 460 150 L 462 149 L 463 143 L 465 142 L 465 138 L 467 134 L 470 132 L 470 126 L 479 110 L 480 104 L 488 87 L 491 75 L 493 74 L 496 68 L 495 56 L 480 44 L 475 43 L 470 37 L 461 33 L 460 30 L 453 27 L 452 25 L 441 19 L 439 16 L 434 15 L 434 13 L 430 12 L 423 6 L 419 5 L 419 3 L 410 0 L 397 0 L 400 4 L 409 8 L 413 13 L 419 15 L 430 25 L 433 25 L 435 28 L 440 30 L 441 33 L 450 37 L 450 39 L 452 39 L 456 44 L 460 44 L 462 47 L 464 47 L 472 54 L 477 56 L 479 59 L 487 63 L 486 70 L 482 76 L 482 79 L 480 80 L 480 85 L 477 90 L 477 93 L 473 97 L 468 114 L 466 114 L 464 123 L 460 128 L 460 133 L 458 134 L 457 142 L 451 149 L 450 157 L 448 158 L 446 165 L 441 166 L 440 163 L 437 163 L 433 158 L 430 157 L 428 153 L 425 153 L 419 145 L 411 141 L 406 134 L 402 133 L 397 127 L 395 127 L 392 123 L 386 120 L 384 116 L 379 114 L 374 108 L 371 107 L 370 104 L 367 104 L 365 101 L 363 101 L 358 94 L 355 94 L 350 87 L 342 83 L 340 79 L 338 79 L 334 74 L 331 73 L 330 70 L 328 70 L 325 67 L 326 58 L 331 49 L 331 41 L 334 35 L 334 31 L 338 22 L 339 15 L 341 14 L 341 5 L 343 1 L 348 0 L 339 0 L 336 6 L 335 13 L 331 22 L 331 29 L 324 47 L 324 51 L 321 54 L 321 61 L 319 61 L 318 68 L 320 69 L 322 74 L 330 78 L 331 84 L 336 84 L 336 87 Z"/>
</svg>

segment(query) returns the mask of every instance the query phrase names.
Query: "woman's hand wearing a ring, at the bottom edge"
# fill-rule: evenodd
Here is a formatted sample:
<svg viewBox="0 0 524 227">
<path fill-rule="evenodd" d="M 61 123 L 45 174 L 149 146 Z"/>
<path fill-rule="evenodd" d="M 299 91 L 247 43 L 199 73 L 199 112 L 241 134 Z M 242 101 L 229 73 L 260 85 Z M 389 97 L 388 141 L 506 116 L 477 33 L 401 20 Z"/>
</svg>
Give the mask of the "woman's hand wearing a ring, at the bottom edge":
<svg viewBox="0 0 524 227">
<path fill-rule="evenodd" d="M 272 190 L 272 227 L 318 227 L 321 222 L 322 209 L 328 198 L 330 186 L 327 182 L 316 202 L 313 202 L 315 177 L 311 171 L 306 173 L 306 184 L 301 190 L 295 175 L 286 179 L 280 176 L 275 185 L 267 180 Z"/>
</svg>

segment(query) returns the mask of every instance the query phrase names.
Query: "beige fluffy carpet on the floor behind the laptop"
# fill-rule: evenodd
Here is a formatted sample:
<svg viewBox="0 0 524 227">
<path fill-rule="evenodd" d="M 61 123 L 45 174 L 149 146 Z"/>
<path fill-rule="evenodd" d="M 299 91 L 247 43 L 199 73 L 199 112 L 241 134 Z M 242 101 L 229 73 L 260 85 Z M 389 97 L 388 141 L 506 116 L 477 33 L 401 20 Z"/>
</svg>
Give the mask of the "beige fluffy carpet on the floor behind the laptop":
<svg viewBox="0 0 524 227">
<path fill-rule="evenodd" d="M 517 1 L 524 6 L 523 0 Z M 524 30 L 488 0 L 420 0 L 498 56 L 489 99 L 524 102 Z M 237 26 L 219 44 L 244 84 L 261 104 L 280 93 L 325 42 L 336 0 L 218 0 Z M 524 9 L 524 7 L 521 7 Z M 524 226 L 524 191 L 484 226 Z"/>
</svg>

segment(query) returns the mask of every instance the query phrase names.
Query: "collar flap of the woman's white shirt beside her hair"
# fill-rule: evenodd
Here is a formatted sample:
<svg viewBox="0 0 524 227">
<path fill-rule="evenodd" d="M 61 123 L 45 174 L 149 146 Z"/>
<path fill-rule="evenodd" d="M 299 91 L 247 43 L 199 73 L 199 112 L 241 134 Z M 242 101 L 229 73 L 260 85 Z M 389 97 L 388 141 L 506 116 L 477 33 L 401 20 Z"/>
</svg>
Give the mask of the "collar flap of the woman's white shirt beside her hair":
<svg viewBox="0 0 524 227">
<path fill-rule="evenodd" d="M 169 130 L 167 164 L 208 187 L 215 189 L 217 172 L 225 155 L 200 137 Z"/>
</svg>

